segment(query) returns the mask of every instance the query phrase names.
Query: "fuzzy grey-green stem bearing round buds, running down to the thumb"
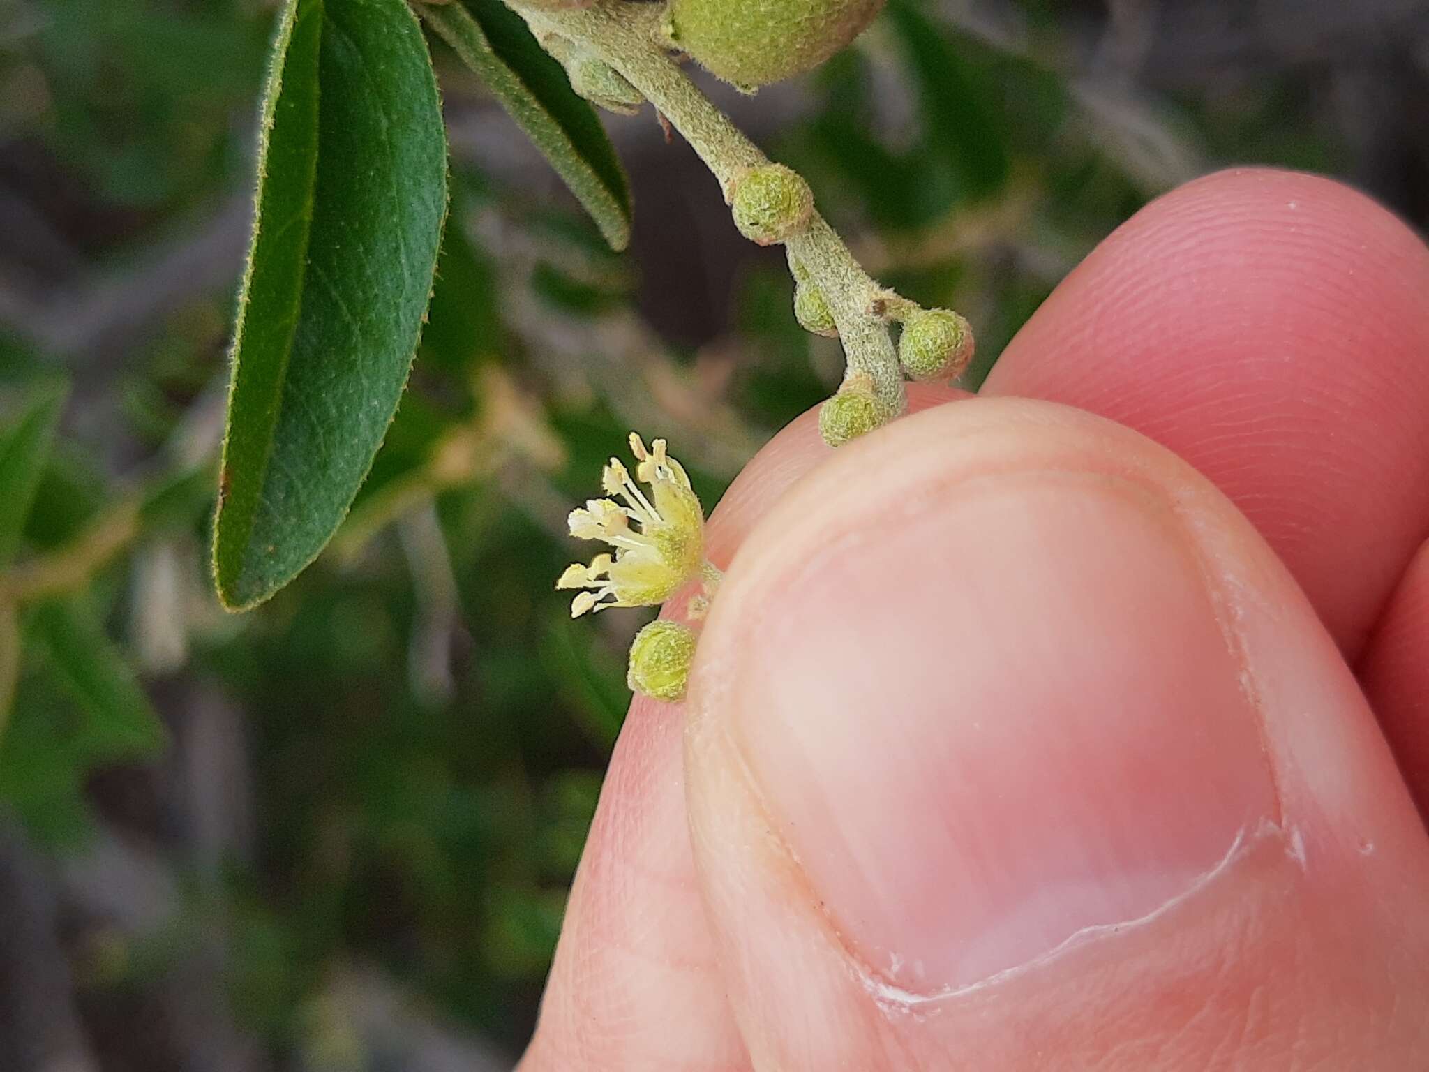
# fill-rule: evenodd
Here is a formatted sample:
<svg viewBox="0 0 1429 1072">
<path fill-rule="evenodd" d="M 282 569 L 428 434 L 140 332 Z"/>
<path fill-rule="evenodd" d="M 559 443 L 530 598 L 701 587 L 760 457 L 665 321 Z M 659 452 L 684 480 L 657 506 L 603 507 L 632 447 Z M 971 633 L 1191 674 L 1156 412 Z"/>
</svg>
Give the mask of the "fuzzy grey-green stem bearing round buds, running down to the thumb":
<svg viewBox="0 0 1429 1072">
<path fill-rule="evenodd" d="M 729 121 L 660 44 L 662 4 L 597 0 L 592 7 L 557 11 L 513 6 L 539 39 L 580 43 L 640 90 L 714 173 L 726 202 L 743 173 L 769 164 L 763 150 Z M 817 212 L 786 244 L 809 280 L 825 293 L 847 357 L 849 376 L 867 377 L 885 419 L 902 413 L 906 396 L 897 352 L 882 316 L 873 309 L 887 292 L 869 279 L 843 239 Z"/>
</svg>

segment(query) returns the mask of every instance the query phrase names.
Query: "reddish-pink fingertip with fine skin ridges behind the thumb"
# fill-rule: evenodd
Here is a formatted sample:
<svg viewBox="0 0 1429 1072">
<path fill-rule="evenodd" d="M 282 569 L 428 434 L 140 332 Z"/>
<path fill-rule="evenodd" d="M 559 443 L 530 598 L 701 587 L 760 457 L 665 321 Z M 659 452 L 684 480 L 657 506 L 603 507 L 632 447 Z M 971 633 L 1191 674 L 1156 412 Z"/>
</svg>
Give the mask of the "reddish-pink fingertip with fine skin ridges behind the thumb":
<svg viewBox="0 0 1429 1072">
<path fill-rule="evenodd" d="M 1370 199 L 1246 169 L 1175 190 L 1027 322 L 983 393 L 1167 446 L 1363 647 L 1429 537 L 1429 249 Z"/>
</svg>

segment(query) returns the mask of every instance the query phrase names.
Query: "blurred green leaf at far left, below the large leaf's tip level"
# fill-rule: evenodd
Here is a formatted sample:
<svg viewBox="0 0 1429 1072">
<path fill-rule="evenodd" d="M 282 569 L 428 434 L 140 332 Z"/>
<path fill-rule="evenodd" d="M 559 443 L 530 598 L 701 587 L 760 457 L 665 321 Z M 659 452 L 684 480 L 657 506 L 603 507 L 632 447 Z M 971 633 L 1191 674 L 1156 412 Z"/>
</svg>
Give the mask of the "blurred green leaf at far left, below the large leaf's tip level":
<svg viewBox="0 0 1429 1072">
<path fill-rule="evenodd" d="M 30 620 L 50 667 L 84 720 L 67 742 L 83 765 L 149 756 L 169 735 L 123 656 L 83 597 L 44 603 Z"/>
</svg>

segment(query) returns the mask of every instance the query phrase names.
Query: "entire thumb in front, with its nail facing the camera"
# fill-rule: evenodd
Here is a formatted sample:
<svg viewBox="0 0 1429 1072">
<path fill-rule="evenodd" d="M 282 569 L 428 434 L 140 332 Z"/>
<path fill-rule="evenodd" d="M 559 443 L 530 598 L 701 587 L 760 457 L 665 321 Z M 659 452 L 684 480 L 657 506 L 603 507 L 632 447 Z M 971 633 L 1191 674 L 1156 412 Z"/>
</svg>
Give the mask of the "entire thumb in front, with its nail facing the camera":
<svg viewBox="0 0 1429 1072">
<path fill-rule="evenodd" d="M 1429 852 L 1225 499 L 1040 403 L 845 450 L 750 535 L 692 682 L 693 843 L 755 1066 L 1422 1056 L 1392 1011 L 1429 995 L 1403 922 Z"/>
</svg>

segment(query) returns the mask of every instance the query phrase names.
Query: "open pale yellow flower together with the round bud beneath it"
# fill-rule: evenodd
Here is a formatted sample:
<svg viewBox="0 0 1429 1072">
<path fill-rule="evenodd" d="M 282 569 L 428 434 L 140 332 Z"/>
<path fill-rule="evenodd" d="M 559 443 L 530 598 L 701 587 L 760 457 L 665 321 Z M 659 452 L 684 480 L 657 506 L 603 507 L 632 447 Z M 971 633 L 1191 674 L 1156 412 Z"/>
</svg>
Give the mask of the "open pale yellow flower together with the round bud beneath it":
<svg viewBox="0 0 1429 1072">
<path fill-rule="evenodd" d="M 612 457 L 600 479 L 607 497 L 570 512 L 572 536 L 612 549 L 589 565 L 569 566 L 556 582 L 559 589 L 576 590 L 572 617 L 616 606 L 656 606 L 693 580 L 702 580 L 704 592 L 692 606 L 703 610 L 719 580 L 719 570 L 704 557 L 704 510 L 689 473 L 669 456 L 663 439 L 646 447 L 632 432 L 630 452 L 634 476 Z M 694 630 L 679 622 L 647 625 L 630 646 L 630 688 L 660 700 L 683 699 L 694 640 Z"/>
</svg>

